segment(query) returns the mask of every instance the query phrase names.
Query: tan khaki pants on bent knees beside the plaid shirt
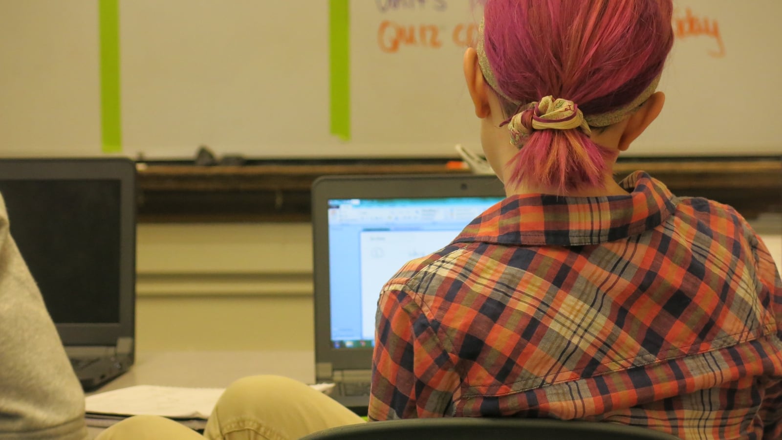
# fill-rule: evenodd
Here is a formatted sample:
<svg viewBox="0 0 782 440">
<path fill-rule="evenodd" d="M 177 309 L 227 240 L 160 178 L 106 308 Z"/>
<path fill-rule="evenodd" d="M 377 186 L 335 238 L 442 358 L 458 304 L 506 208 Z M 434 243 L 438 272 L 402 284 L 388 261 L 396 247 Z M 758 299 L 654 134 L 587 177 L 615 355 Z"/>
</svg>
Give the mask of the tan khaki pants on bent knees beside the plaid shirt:
<svg viewBox="0 0 782 440">
<path fill-rule="evenodd" d="M 103 431 L 96 440 L 294 440 L 328 427 L 364 423 L 364 419 L 327 395 L 279 376 L 237 380 L 214 407 L 203 437 L 173 420 L 136 416 Z"/>
</svg>

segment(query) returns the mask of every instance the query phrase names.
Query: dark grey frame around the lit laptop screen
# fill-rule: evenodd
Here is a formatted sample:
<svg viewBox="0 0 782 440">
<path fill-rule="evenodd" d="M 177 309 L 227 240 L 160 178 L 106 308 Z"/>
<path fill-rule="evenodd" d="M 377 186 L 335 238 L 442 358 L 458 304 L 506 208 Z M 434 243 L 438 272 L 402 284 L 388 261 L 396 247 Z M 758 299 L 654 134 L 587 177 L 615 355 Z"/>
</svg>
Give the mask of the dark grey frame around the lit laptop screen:
<svg viewBox="0 0 782 440">
<path fill-rule="evenodd" d="M 371 347 L 332 348 L 328 200 L 441 197 L 504 197 L 504 187 L 494 175 L 468 174 L 343 175 L 325 176 L 313 182 L 311 212 L 316 363 L 328 362 L 333 370 L 371 369 Z"/>
</svg>

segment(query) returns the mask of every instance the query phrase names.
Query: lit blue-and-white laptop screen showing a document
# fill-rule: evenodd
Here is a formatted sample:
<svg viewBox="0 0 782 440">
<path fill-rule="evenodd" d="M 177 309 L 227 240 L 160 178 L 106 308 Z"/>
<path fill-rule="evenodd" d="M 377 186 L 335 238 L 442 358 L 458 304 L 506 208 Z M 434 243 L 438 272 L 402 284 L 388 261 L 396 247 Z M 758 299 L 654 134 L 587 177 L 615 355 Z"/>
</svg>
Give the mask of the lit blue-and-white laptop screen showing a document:
<svg viewBox="0 0 782 440">
<path fill-rule="evenodd" d="M 447 246 L 501 197 L 329 199 L 332 348 L 371 348 L 383 285 L 411 259 Z"/>
</svg>

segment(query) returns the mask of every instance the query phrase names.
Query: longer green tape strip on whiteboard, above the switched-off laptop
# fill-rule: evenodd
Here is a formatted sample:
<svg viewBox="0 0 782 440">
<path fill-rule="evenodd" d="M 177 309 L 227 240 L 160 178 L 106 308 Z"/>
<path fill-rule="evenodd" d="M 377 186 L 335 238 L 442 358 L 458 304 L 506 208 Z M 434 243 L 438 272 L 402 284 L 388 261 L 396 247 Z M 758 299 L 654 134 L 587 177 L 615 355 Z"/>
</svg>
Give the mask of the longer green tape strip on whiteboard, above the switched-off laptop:
<svg viewBox="0 0 782 440">
<path fill-rule="evenodd" d="M 103 153 L 122 151 L 120 0 L 99 0 L 100 103 Z"/>
</svg>

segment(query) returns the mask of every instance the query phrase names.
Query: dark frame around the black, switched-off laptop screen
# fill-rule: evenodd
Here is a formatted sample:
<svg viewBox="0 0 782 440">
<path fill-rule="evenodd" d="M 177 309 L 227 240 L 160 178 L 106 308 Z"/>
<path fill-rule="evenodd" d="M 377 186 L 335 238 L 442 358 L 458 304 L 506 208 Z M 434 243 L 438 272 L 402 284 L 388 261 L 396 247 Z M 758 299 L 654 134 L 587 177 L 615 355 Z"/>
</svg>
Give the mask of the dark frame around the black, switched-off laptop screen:
<svg viewBox="0 0 782 440">
<path fill-rule="evenodd" d="M 127 158 L 0 159 L 0 180 L 120 182 L 120 303 L 117 323 L 55 323 L 65 346 L 116 345 L 135 336 L 136 168 Z M 10 218 L 13 225 L 13 214 Z"/>
</svg>

